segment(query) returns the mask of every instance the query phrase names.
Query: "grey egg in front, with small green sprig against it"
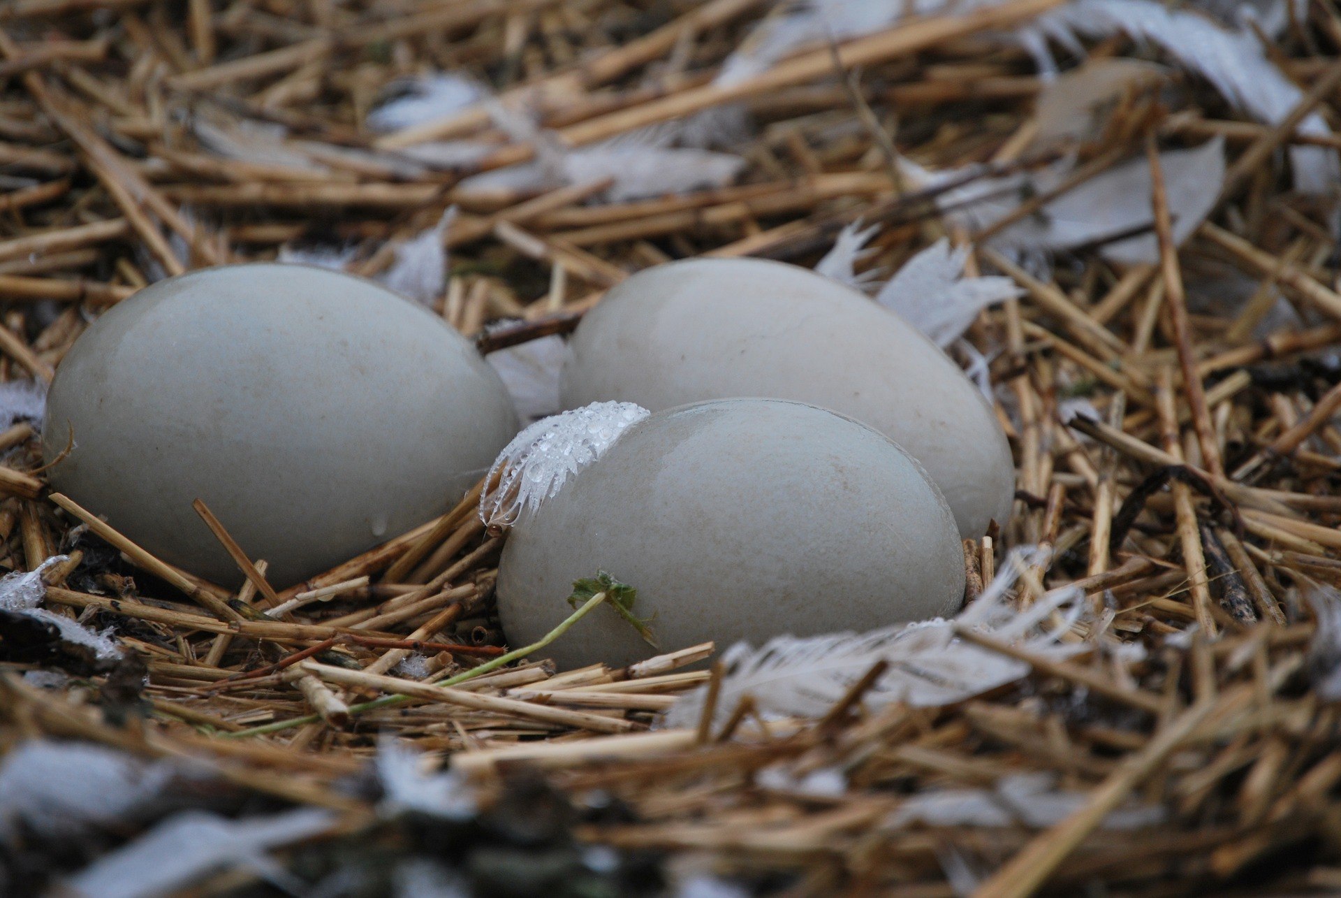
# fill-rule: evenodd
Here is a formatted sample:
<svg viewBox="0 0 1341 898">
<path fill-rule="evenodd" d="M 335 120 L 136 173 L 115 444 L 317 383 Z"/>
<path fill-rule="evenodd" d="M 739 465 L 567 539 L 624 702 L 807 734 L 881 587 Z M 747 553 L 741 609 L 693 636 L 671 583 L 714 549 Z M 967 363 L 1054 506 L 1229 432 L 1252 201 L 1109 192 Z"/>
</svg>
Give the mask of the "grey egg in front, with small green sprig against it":
<svg viewBox="0 0 1341 898">
<path fill-rule="evenodd" d="M 657 647 L 725 648 L 779 634 L 865 631 L 953 612 L 959 533 L 923 468 L 889 438 L 784 400 L 728 399 L 630 426 L 534 511 L 499 561 L 514 646 L 573 612 L 598 570 L 637 589 Z M 559 668 L 658 651 L 597 608 L 546 648 Z"/>
</svg>

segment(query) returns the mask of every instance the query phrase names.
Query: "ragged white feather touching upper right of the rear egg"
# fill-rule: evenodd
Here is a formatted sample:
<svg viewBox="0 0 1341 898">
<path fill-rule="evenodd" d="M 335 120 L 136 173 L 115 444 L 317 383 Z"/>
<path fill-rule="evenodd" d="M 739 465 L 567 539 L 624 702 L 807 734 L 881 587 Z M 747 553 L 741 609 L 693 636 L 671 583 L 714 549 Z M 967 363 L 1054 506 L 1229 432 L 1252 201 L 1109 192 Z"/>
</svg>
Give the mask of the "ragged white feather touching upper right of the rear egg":
<svg viewBox="0 0 1341 898">
<path fill-rule="evenodd" d="M 945 348 L 964 336 L 979 311 L 1022 293 L 1010 278 L 966 278 L 967 260 L 968 247 L 952 250 L 941 238 L 905 262 L 876 302 Z"/>
</svg>

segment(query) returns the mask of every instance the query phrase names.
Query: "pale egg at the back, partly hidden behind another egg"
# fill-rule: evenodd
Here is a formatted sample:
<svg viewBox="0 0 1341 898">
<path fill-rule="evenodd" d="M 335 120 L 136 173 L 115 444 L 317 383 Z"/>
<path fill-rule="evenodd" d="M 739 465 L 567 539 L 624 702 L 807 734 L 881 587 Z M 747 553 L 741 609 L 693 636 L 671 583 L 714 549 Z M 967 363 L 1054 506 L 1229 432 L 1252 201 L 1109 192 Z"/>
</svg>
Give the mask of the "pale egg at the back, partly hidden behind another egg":
<svg viewBox="0 0 1341 898">
<path fill-rule="evenodd" d="M 806 268 L 695 259 L 641 271 L 578 326 L 565 408 L 625 400 L 658 411 L 771 396 L 870 424 L 927 468 L 960 536 L 1010 518 L 1010 446 L 945 353 L 870 298 Z"/>
</svg>

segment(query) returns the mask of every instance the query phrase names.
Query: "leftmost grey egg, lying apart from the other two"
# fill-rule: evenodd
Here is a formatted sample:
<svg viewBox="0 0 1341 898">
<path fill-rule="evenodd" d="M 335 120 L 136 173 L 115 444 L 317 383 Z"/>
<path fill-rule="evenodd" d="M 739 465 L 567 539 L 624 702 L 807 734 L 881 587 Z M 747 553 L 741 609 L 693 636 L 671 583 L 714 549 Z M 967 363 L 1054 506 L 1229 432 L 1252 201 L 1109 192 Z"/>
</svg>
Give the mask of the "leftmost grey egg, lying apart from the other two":
<svg viewBox="0 0 1341 898">
<path fill-rule="evenodd" d="M 56 370 L 43 448 L 54 489 L 237 584 L 204 499 L 282 588 L 441 514 L 516 430 L 498 375 L 429 310 L 335 271 L 237 264 L 98 318 Z"/>
</svg>

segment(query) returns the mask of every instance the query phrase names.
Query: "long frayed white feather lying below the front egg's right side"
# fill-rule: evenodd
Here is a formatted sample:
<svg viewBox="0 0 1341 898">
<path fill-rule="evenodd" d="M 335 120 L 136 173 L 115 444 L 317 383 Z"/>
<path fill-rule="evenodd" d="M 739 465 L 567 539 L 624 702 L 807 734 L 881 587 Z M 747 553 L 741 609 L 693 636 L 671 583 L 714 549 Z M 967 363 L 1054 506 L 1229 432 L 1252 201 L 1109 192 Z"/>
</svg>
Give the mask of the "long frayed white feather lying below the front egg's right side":
<svg viewBox="0 0 1341 898">
<path fill-rule="evenodd" d="M 1026 611 L 1016 611 L 1007 591 L 1025 565 L 1038 561 L 1037 549 L 1016 549 L 1000 573 L 955 619 L 897 624 L 866 634 L 831 634 L 798 639 L 779 636 L 763 648 L 736 643 L 724 655 L 727 675 L 717 701 L 719 722 L 750 695 L 764 715 L 822 717 L 876 662 L 889 668 L 866 691 L 869 706 L 905 702 L 929 707 L 979 695 L 1025 677 L 1029 664 L 980 648 L 956 636 L 960 627 L 1019 643 L 1030 652 L 1066 655 L 1077 651 L 1059 638 L 1084 613 L 1084 593 L 1061 589 Z M 1042 628 L 1054 613 L 1059 621 Z M 693 726 L 703 714 L 707 687 L 676 702 L 666 711 L 666 726 Z"/>
</svg>

